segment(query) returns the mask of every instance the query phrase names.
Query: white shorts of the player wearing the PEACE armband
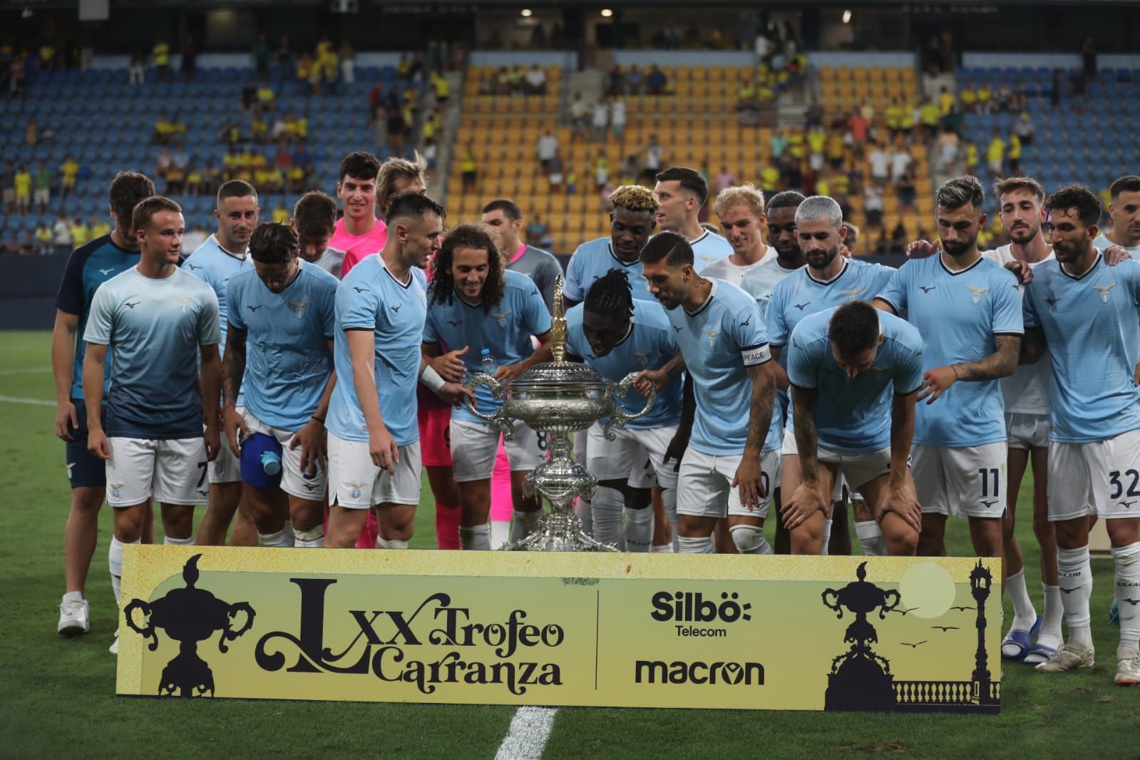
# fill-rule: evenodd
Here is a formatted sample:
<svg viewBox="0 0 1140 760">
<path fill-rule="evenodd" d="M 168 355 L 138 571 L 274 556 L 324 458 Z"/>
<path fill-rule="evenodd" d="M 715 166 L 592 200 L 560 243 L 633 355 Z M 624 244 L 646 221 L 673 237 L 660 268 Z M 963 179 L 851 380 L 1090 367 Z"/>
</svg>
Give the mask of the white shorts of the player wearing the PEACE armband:
<svg viewBox="0 0 1140 760">
<path fill-rule="evenodd" d="M 767 517 L 772 505 L 772 482 L 780 467 L 780 452 L 773 450 L 760 453 L 760 483 L 767 496 L 756 509 L 744 508 L 740 502 L 740 489 L 732 488 L 740 460 L 740 455 L 716 457 L 693 449 L 686 450 L 677 479 L 677 514 L 698 517 Z"/>
</svg>

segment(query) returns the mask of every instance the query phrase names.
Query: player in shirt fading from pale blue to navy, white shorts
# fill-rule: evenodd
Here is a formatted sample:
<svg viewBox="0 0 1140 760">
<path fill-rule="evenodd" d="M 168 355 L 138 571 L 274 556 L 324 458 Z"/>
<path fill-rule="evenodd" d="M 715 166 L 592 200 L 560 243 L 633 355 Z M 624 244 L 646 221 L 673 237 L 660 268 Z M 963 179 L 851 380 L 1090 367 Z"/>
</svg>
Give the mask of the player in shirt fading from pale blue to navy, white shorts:
<svg viewBox="0 0 1140 760">
<path fill-rule="evenodd" d="M 107 559 L 116 604 L 123 546 L 139 542 L 152 498 L 162 505 L 164 542 L 194 541 L 194 506 L 202 501 L 206 464 L 221 441 L 218 296 L 178 267 L 186 229 L 181 211 L 160 196 L 135 206 L 138 264 L 99 286 L 83 332 L 87 448 L 106 461 L 106 498 L 115 510 Z M 105 374 L 111 376 L 106 428 Z M 117 631 L 111 651 L 119 654 Z"/>
</svg>

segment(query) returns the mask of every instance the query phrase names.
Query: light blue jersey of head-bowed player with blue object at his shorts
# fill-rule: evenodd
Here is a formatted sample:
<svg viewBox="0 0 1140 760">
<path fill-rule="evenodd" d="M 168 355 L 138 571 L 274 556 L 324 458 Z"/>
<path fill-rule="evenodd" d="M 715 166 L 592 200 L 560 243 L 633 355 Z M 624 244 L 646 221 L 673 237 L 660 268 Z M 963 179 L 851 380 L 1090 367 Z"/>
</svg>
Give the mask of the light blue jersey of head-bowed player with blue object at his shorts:
<svg viewBox="0 0 1140 760">
<path fill-rule="evenodd" d="M 249 269 L 229 280 L 229 324 L 245 330 L 245 408 L 258 419 L 299 431 L 317 411 L 333 371 L 337 280 L 301 261 L 298 276 L 274 293 Z M 351 378 L 349 378 L 351 382 Z"/>
</svg>

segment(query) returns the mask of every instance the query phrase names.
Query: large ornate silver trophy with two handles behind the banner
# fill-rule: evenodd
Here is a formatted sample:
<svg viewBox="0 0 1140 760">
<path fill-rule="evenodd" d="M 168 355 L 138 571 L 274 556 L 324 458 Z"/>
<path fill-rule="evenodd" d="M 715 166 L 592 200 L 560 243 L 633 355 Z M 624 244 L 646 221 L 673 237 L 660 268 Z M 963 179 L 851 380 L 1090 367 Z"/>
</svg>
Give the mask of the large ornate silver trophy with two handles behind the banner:
<svg viewBox="0 0 1140 760">
<path fill-rule="evenodd" d="M 499 383 L 490 375 L 477 373 L 466 384 L 472 391 L 486 385 L 496 399 L 504 399 L 503 408 L 492 415 L 482 414 L 464 399 L 471 414 L 503 431 L 504 439 L 514 438 L 515 419 L 551 436 L 551 458 L 527 475 L 526 483 L 528 495 L 537 492 L 551 502 L 551 513 L 539 520 L 531 536 L 503 548 L 511 551 L 616 551 L 613 546 L 586 536 L 581 521 L 570 508 L 575 498 L 589 499 L 597 488 L 597 479 L 575 461 L 570 433 L 584 434 L 595 422 L 609 417 L 604 434 L 612 441 L 613 428 L 625 427 L 630 419 L 649 414 L 657 394 L 651 389 L 645 407 L 637 414 L 626 414 L 618 399 L 625 398 L 633 387 L 637 373 L 626 375 L 619 383 L 610 383 L 586 365 L 567 361 L 561 276 L 554 286 L 551 348 L 554 361 L 535 365 L 513 381 Z"/>
</svg>

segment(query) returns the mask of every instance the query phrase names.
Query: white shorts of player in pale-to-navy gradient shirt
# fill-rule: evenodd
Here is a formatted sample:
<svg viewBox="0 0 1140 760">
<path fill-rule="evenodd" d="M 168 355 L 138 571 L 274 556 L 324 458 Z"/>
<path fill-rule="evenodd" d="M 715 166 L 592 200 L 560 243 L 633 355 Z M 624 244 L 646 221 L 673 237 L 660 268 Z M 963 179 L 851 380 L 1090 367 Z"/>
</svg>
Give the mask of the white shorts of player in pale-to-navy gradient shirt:
<svg viewBox="0 0 1140 760">
<path fill-rule="evenodd" d="M 112 438 L 107 446 L 107 504 L 112 507 L 132 507 L 152 498 L 184 506 L 210 500 L 206 446 L 201 438 Z"/>
</svg>

